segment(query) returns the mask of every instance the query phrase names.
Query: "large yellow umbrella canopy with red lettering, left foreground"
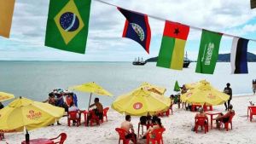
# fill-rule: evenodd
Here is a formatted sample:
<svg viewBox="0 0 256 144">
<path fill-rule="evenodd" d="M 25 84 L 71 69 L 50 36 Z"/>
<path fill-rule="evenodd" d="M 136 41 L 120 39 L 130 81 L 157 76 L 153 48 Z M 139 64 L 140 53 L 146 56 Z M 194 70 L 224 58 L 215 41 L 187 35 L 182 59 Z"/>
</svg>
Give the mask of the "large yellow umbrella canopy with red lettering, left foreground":
<svg viewBox="0 0 256 144">
<path fill-rule="evenodd" d="M 15 99 L 0 111 L 0 129 L 5 132 L 34 130 L 55 123 L 64 109 L 24 97 Z"/>
</svg>

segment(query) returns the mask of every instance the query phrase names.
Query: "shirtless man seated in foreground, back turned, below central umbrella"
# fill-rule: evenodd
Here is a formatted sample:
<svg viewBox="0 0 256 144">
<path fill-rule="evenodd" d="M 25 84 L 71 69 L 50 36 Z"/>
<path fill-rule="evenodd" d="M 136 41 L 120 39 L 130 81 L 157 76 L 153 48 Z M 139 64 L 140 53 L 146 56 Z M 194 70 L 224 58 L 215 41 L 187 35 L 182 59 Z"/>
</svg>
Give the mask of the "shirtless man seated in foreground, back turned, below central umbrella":
<svg viewBox="0 0 256 144">
<path fill-rule="evenodd" d="M 133 125 L 131 124 L 131 116 L 126 115 L 125 121 L 121 124 L 121 129 L 125 130 L 125 139 L 131 139 L 133 143 L 137 143 L 137 135 L 134 133 Z M 131 131 L 130 131 L 131 130 Z"/>
</svg>

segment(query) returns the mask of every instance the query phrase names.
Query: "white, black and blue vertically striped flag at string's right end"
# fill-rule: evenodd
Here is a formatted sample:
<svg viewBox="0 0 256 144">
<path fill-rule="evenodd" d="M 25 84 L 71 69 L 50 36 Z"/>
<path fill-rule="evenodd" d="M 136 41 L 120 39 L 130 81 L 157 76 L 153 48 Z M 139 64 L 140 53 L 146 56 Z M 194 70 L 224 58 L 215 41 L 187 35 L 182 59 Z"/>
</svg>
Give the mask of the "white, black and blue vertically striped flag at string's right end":
<svg viewBox="0 0 256 144">
<path fill-rule="evenodd" d="M 234 37 L 230 52 L 231 73 L 248 73 L 247 44 L 249 40 Z"/>
</svg>

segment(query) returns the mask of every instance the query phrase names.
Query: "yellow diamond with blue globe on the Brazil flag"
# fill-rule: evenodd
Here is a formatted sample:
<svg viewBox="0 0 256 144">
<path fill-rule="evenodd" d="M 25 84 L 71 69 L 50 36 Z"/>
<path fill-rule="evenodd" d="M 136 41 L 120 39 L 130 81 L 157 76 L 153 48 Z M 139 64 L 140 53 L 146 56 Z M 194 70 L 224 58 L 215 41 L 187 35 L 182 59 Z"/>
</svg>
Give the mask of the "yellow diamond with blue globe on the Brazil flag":
<svg viewBox="0 0 256 144">
<path fill-rule="evenodd" d="M 84 27 L 84 22 L 73 0 L 55 16 L 55 24 L 65 43 L 69 43 Z"/>
</svg>

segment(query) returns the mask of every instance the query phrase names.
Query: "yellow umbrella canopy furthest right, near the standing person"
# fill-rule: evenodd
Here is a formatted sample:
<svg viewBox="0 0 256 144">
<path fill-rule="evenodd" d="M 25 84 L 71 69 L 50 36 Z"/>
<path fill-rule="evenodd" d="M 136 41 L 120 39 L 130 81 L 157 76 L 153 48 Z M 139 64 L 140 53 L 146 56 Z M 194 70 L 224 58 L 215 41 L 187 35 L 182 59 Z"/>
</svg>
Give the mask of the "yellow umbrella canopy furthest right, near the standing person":
<svg viewBox="0 0 256 144">
<path fill-rule="evenodd" d="M 230 95 L 213 88 L 207 81 L 201 82 L 195 88 L 181 95 L 181 100 L 184 102 L 208 106 L 221 105 L 229 98 Z"/>
</svg>

